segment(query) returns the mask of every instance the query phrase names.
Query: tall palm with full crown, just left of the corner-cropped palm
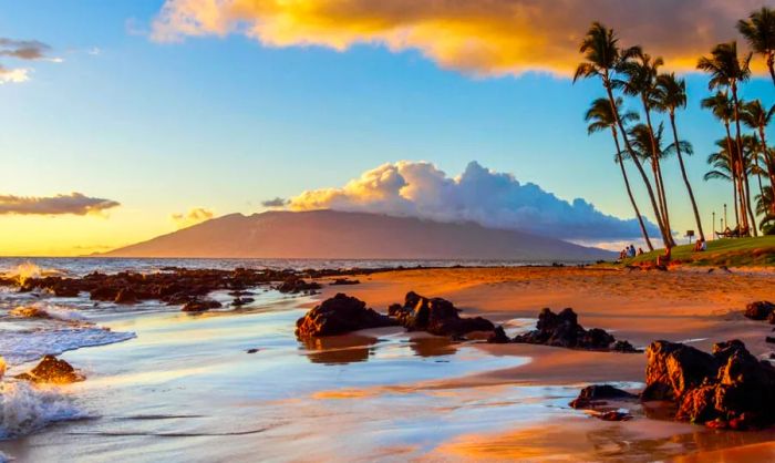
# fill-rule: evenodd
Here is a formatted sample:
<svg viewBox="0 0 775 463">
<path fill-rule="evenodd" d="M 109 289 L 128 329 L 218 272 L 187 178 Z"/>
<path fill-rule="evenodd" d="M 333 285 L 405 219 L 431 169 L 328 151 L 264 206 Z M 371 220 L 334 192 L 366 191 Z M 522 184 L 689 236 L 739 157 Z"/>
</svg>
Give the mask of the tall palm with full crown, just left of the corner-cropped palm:
<svg viewBox="0 0 775 463">
<path fill-rule="evenodd" d="M 738 162 L 743 165 L 743 138 L 740 128 L 740 100 L 737 97 L 737 86 L 740 83 L 747 81 L 751 78 L 751 59 L 753 54 L 748 53 L 742 59 L 737 55 L 737 42 L 720 43 L 711 50 L 711 56 L 702 56 L 698 62 L 698 69 L 705 71 L 711 75 L 709 88 L 715 90 L 717 88 L 728 89 L 732 92 L 732 106 L 734 109 L 735 121 L 735 140 L 737 144 Z M 742 181 L 747 185 L 747 174 L 742 168 Z M 747 212 L 753 217 L 754 213 L 751 208 L 751 202 L 745 199 L 742 202 L 747 205 Z M 745 214 L 746 209 L 741 210 L 743 227 L 746 229 L 753 228 L 754 235 L 757 235 L 756 227 L 748 226 L 748 217 Z"/>
</svg>

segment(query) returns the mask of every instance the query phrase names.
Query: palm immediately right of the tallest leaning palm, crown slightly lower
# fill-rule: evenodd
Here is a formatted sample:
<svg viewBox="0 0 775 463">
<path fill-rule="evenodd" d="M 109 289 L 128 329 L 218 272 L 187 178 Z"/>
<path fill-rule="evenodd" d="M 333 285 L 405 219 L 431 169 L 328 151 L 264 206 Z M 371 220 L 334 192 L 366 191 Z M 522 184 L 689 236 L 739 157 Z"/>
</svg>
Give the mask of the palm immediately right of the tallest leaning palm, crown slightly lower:
<svg viewBox="0 0 775 463">
<path fill-rule="evenodd" d="M 645 126 L 649 128 L 651 140 L 651 153 L 657 152 L 657 141 L 654 136 L 654 126 L 651 122 L 651 111 L 657 106 L 657 75 L 659 68 L 664 64 L 661 58 L 652 58 L 644 53 L 640 47 L 632 47 L 622 52 L 622 58 L 617 65 L 617 71 L 621 74 L 620 79 L 613 80 L 616 88 L 622 89 L 624 94 L 638 97 L 643 105 L 645 114 Z M 664 181 L 662 179 L 662 167 L 659 157 L 651 160 L 651 166 L 654 174 L 654 185 L 659 197 L 659 206 L 662 213 L 664 227 L 670 229 L 670 213 L 668 210 L 668 197 L 664 189 Z M 672 236 L 670 236 L 672 241 Z M 674 241 L 672 241 L 674 245 Z"/>
</svg>

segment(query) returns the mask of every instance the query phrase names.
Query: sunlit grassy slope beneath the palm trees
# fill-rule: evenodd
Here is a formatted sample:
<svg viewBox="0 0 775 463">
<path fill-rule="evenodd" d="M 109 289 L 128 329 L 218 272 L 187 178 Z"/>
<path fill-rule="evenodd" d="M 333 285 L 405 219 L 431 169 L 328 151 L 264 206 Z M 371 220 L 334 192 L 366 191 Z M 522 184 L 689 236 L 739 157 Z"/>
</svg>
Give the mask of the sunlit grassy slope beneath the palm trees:
<svg viewBox="0 0 775 463">
<path fill-rule="evenodd" d="M 627 259 L 622 265 L 655 263 L 663 249 Z M 694 244 L 678 246 L 672 263 L 698 267 L 775 267 L 775 236 L 726 238 L 707 241 L 707 250 L 694 253 Z"/>
</svg>

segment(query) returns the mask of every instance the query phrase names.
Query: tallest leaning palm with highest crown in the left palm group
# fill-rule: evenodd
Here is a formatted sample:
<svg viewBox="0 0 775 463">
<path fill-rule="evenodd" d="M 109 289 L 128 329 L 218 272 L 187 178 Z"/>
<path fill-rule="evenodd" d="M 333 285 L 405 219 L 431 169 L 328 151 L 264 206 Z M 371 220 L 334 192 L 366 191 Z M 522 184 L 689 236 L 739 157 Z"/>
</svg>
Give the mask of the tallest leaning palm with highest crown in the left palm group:
<svg viewBox="0 0 775 463">
<path fill-rule="evenodd" d="M 578 65 L 576 73 L 574 74 L 574 82 L 579 79 L 591 79 L 598 78 L 602 82 L 602 86 L 608 95 L 608 102 L 611 105 L 611 112 L 617 120 L 617 126 L 621 133 L 621 137 L 624 142 L 624 147 L 633 160 L 638 172 L 645 184 L 647 192 L 649 194 L 649 199 L 651 200 L 651 206 L 654 210 L 654 217 L 657 224 L 659 225 L 660 232 L 662 234 L 662 240 L 666 247 L 672 247 L 670 238 L 670 230 L 664 227 L 662 222 L 662 216 L 660 214 L 660 208 L 657 205 L 657 199 L 654 197 L 654 191 L 651 187 L 649 177 L 645 175 L 643 165 L 636 155 L 630 145 L 630 141 L 627 136 L 627 131 L 624 124 L 619 116 L 619 109 L 617 107 L 616 100 L 613 97 L 613 86 L 611 82 L 612 74 L 616 72 L 616 68 L 621 60 L 621 50 L 619 49 L 619 39 L 612 29 L 608 29 L 599 22 L 593 22 L 583 40 L 581 41 L 581 47 L 579 52 L 583 54 L 585 61 Z"/>
</svg>

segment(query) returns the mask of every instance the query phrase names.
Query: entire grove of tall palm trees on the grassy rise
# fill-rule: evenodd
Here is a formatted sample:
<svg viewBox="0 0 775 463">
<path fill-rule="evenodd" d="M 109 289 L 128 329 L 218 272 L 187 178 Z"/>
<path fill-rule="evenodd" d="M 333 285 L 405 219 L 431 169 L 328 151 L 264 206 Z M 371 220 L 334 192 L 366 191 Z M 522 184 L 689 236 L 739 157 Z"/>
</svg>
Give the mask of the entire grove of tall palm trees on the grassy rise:
<svg viewBox="0 0 775 463">
<path fill-rule="evenodd" d="M 653 246 L 631 182 L 641 182 L 644 186 L 651 205 L 649 212 L 659 227 L 662 244 L 673 248 L 670 205 L 675 195 L 665 185 L 663 172 L 675 167 L 680 169 L 681 189 L 692 206 L 700 239 L 707 240 L 717 232 L 754 237 L 760 230 L 764 235 L 775 233 L 775 150 L 769 147 L 766 133 L 775 119 L 775 105 L 740 97 L 741 88 L 752 76 L 754 56 L 764 59 L 775 84 L 775 9 L 765 7 L 754 11 L 737 23 L 737 31 L 751 51 L 741 52 L 737 42 L 732 40 L 713 47 L 707 55 L 698 60 L 698 69 L 707 74 L 707 86 L 714 92 L 702 101 L 702 107 L 712 112 L 724 127 L 725 135 L 716 142 L 719 151 L 707 156 L 711 168 L 704 178 L 731 184 L 735 219 L 734 228 L 731 223 L 724 224 L 725 229 L 711 230 L 710 237 L 703 229 L 702 204 L 694 194 L 684 162 L 684 156 L 693 154 L 692 145 L 679 136 L 679 113 L 686 107 L 688 100 L 685 81 L 674 73 L 661 72 L 662 58 L 647 53 L 639 45 L 622 47 L 617 33 L 600 22 L 592 23 L 581 41 L 579 52 L 583 61 L 576 70 L 574 82 L 596 79 L 604 91 L 604 97 L 596 99 L 587 111 L 588 131 L 590 135 L 598 132 L 611 134 L 616 146 L 614 161 L 620 166 L 624 188 L 649 249 Z M 638 112 L 624 107 L 627 97 L 639 107 Z M 671 161 L 673 156 L 676 163 Z M 628 176 L 628 165 L 636 167 L 636 178 Z M 647 165 L 650 173 L 647 173 Z M 752 177 L 758 193 L 752 192 Z M 746 248 L 745 244 L 775 246 L 775 240 L 769 237 L 760 241 L 737 239 L 734 245 L 726 241 L 711 240 L 709 245 L 712 243 L 713 249 L 724 253 L 756 251 L 757 248 Z M 676 247 L 673 258 L 681 260 L 678 256 L 684 251 L 683 247 Z M 704 261 L 717 253 L 703 255 Z M 639 259 L 649 258 L 655 259 L 655 255 L 647 254 Z M 688 260 L 693 263 L 696 259 Z"/>
</svg>

